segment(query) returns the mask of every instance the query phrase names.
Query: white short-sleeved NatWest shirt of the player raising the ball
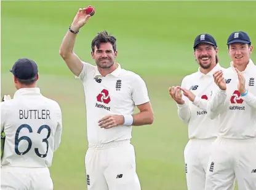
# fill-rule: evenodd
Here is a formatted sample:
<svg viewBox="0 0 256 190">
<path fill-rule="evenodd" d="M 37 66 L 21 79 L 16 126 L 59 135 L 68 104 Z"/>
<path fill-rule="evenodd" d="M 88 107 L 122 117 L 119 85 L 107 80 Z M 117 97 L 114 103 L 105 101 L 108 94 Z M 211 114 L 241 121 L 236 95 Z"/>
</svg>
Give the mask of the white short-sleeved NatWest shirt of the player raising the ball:
<svg viewBox="0 0 256 190">
<path fill-rule="evenodd" d="M 135 105 L 149 102 L 148 90 L 142 78 L 129 70 L 118 68 L 103 77 L 89 63 L 83 63 L 79 78 L 84 85 L 89 145 L 100 145 L 131 139 L 132 126 L 100 128 L 98 120 L 106 115 L 132 115 Z"/>
</svg>

